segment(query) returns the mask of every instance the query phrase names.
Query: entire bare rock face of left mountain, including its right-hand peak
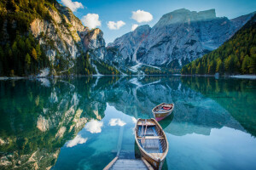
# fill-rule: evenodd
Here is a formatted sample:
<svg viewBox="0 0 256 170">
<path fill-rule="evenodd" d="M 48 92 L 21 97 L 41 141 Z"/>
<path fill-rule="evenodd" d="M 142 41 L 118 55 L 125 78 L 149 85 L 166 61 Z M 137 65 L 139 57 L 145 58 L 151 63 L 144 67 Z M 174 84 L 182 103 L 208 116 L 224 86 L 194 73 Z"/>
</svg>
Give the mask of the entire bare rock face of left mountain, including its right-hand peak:
<svg viewBox="0 0 256 170">
<path fill-rule="evenodd" d="M 103 59 L 106 55 L 103 33 L 99 29 L 89 30 L 73 12 L 55 3 L 55 8 L 48 8 L 52 20 L 36 19 L 31 23 L 34 37 L 44 46 L 49 61 L 56 62 L 56 55 L 67 60 L 67 69 L 73 67 L 74 60 L 82 52 Z"/>
</svg>

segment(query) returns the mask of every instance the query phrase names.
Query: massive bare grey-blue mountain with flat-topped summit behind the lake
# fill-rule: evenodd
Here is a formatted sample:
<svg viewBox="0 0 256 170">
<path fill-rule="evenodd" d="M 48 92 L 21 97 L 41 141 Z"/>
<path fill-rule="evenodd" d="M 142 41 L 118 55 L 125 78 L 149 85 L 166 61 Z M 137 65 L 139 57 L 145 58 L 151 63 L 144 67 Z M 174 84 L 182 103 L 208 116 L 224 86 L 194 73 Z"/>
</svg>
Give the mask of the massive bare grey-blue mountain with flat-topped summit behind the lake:
<svg viewBox="0 0 256 170">
<path fill-rule="evenodd" d="M 108 44 L 111 49 L 108 58 L 123 65 L 141 63 L 179 69 L 218 48 L 252 16 L 229 20 L 216 17 L 215 9 L 201 12 L 178 9 L 164 14 L 152 28 L 138 26 L 135 31 L 116 38 Z"/>
</svg>

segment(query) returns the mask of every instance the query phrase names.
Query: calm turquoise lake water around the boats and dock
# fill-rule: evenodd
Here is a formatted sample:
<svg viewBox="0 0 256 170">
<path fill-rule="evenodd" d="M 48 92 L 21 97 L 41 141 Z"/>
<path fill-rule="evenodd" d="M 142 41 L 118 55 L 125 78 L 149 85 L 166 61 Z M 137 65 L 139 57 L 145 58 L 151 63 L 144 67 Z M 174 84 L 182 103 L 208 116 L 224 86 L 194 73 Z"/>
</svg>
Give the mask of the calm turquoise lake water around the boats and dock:
<svg viewBox="0 0 256 170">
<path fill-rule="evenodd" d="M 212 77 L 81 77 L 0 82 L 0 167 L 102 169 L 138 157 L 133 128 L 160 122 L 164 169 L 256 169 L 256 81 Z M 120 137 L 119 137 L 120 136 Z"/>
</svg>

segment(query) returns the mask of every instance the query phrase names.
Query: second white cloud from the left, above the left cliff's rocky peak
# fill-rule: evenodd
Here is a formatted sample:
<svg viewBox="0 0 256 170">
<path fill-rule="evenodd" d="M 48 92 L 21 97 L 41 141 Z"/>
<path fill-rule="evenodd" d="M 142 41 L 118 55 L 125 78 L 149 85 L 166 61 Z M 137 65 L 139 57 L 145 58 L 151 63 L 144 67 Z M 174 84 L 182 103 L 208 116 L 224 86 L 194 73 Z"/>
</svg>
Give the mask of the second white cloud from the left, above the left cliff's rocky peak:
<svg viewBox="0 0 256 170">
<path fill-rule="evenodd" d="M 102 26 L 101 20 L 99 20 L 98 14 L 86 14 L 82 18 L 84 26 L 88 26 L 90 29 Z"/>
</svg>

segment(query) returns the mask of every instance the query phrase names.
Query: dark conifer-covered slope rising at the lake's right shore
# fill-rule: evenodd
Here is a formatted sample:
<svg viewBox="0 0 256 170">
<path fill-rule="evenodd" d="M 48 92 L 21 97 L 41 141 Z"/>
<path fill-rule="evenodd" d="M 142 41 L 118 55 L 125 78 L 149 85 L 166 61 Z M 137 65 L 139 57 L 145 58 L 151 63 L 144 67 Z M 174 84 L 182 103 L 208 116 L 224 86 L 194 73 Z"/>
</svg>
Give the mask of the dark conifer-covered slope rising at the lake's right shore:
<svg viewBox="0 0 256 170">
<path fill-rule="evenodd" d="M 237 20 L 235 21 L 237 23 Z M 256 74 L 256 14 L 218 49 L 184 65 L 182 74 Z"/>
</svg>

